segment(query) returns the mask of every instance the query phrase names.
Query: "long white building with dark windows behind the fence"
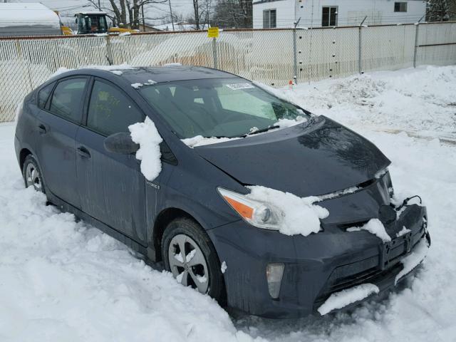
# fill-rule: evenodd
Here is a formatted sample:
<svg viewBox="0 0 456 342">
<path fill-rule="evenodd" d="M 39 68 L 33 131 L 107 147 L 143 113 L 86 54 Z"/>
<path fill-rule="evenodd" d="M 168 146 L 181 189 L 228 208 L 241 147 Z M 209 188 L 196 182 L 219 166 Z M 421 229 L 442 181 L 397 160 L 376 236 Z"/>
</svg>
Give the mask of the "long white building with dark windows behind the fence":
<svg viewBox="0 0 456 342">
<path fill-rule="evenodd" d="M 426 13 L 425 0 L 254 0 L 254 28 L 409 24 Z"/>
</svg>

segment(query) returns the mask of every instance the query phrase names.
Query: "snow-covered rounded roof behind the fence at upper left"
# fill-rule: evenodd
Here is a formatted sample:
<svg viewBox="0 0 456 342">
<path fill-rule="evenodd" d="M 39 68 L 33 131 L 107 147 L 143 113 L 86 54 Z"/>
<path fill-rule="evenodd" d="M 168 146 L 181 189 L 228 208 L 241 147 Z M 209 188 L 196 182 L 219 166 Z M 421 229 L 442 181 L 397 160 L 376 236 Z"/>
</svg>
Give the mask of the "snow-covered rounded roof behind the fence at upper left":
<svg viewBox="0 0 456 342">
<path fill-rule="evenodd" d="M 0 4 L 0 27 L 35 25 L 60 28 L 60 19 L 43 4 Z"/>
</svg>

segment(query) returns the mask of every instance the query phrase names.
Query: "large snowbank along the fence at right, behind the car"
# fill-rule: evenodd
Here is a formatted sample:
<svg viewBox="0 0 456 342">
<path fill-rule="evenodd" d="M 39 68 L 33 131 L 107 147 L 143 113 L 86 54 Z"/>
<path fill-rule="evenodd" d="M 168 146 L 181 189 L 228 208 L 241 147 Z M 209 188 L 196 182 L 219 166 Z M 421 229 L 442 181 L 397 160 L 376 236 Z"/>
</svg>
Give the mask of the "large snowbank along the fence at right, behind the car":
<svg viewBox="0 0 456 342">
<path fill-rule="evenodd" d="M 348 125 L 427 135 L 455 131 L 456 66 L 380 71 L 272 91 Z"/>
</svg>

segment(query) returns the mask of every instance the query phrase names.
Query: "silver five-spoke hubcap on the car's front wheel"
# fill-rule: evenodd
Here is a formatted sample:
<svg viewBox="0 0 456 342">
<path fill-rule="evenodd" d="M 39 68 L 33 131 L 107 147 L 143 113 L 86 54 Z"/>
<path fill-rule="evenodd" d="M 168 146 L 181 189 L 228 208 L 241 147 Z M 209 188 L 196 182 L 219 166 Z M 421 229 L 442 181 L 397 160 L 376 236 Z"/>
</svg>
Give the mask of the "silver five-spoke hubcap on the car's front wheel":
<svg viewBox="0 0 456 342">
<path fill-rule="evenodd" d="M 172 275 L 184 286 L 192 286 L 202 294 L 209 288 L 206 259 L 197 243 L 184 234 L 172 238 L 168 248 Z"/>
</svg>

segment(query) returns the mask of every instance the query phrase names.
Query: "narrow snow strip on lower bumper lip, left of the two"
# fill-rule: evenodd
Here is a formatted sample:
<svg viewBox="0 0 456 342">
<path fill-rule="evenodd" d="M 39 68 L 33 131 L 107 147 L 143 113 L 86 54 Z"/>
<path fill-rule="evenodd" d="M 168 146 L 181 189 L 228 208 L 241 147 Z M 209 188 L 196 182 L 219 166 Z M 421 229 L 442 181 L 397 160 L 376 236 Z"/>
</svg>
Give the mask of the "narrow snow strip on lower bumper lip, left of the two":
<svg viewBox="0 0 456 342">
<path fill-rule="evenodd" d="M 342 290 L 331 294 L 326 301 L 317 309 L 317 311 L 323 316 L 329 312 L 342 309 L 343 307 L 361 301 L 371 294 L 378 294 L 378 287 L 374 284 L 361 284 L 353 286 L 350 289 Z"/>
</svg>

